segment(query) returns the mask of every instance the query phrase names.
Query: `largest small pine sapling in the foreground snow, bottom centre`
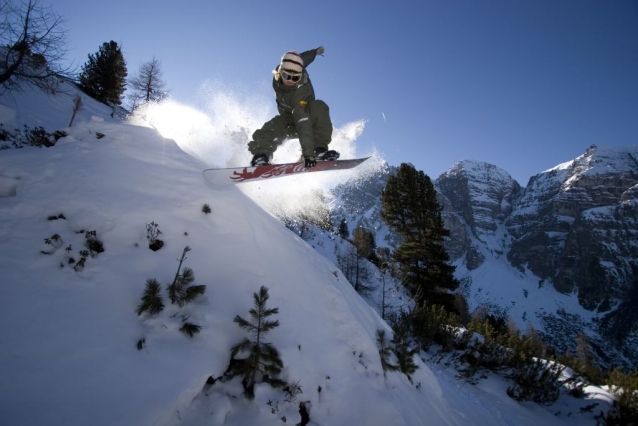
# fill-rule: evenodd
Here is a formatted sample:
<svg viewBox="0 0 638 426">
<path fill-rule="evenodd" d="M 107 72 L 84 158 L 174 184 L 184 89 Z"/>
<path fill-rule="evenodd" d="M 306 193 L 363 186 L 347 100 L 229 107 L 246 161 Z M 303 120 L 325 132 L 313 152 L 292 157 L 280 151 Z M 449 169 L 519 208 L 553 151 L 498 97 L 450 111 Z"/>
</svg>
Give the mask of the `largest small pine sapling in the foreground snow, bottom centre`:
<svg viewBox="0 0 638 426">
<path fill-rule="evenodd" d="M 268 288 L 262 286 L 258 293 L 253 293 L 255 307 L 250 311 L 251 320 L 247 321 L 237 315 L 234 319 L 239 327 L 250 333 L 250 338 L 246 337 L 241 342 L 231 348 L 231 360 L 243 352 L 248 356 L 240 362 L 231 362 L 233 375 L 242 376 L 244 386 L 244 396 L 248 399 L 255 397 L 255 383 L 261 381 L 270 384 L 272 387 L 283 387 L 286 385 L 278 376 L 283 368 L 283 362 L 279 356 L 279 351 L 271 344 L 264 342 L 264 336 L 276 327 L 279 321 L 271 321 L 267 318 L 278 314 L 279 308 L 267 309 L 266 302 L 269 299 Z"/>
</svg>

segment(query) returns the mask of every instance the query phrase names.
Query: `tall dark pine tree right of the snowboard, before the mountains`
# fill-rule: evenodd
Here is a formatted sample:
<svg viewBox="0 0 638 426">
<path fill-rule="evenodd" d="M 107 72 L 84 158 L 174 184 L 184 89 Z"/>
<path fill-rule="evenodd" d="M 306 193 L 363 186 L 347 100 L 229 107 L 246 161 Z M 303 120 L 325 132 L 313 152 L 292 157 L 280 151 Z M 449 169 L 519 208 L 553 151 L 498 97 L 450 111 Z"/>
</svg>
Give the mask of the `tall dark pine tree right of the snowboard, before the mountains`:
<svg viewBox="0 0 638 426">
<path fill-rule="evenodd" d="M 443 227 L 432 181 L 414 166 L 401 164 L 388 179 L 381 202 L 381 218 L 403 237 L 394 257 L 416 302 L 438 303 L 453 310 L 453 297 L 447 292 L 459 282 L 445 250 L 449 231 Z"/>
</svg>

